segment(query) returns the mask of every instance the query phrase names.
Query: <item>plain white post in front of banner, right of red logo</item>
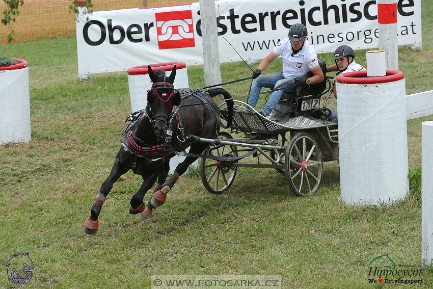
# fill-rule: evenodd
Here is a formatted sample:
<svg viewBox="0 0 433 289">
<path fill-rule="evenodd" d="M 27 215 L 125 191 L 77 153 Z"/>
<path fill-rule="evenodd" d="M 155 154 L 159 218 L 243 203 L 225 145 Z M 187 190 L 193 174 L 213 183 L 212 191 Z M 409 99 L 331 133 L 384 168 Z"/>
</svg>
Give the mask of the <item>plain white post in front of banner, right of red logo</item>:
<svg viewBox="0 0 433 289">
<path fill-rule="evenodd" d="M 217 13 L 214 0 L 200 0 L 203 39 L 203 68 L 206 86 L 221 83 L 220 50 L 218 46 Z"/>
</svg>

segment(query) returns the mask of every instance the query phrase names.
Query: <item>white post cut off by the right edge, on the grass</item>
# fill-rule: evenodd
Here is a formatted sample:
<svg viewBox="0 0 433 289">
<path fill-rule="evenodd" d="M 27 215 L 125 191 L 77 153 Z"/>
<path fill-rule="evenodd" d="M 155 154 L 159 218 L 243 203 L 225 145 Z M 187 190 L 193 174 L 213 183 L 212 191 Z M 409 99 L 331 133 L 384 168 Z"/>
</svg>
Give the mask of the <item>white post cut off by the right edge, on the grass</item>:
<svg viewBox="0 0 433 289">
<path fill-rule="evenodd" d="M 422 201 L 422 245 L 421 260 L 431 266 L 433 259 L 433 121 L 422 123 L 422 174 L 421 174 L 421 201 Z"/>
</svg>

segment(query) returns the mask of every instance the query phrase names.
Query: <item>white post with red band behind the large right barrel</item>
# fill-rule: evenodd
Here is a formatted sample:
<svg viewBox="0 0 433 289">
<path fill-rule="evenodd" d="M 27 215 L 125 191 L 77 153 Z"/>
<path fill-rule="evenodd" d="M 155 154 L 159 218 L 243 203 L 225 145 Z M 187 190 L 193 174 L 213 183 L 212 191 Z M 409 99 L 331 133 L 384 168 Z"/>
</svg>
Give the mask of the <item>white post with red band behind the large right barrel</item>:
<svg viewBox="0 0 433 289">
<path fill-rule="evenodd" d="M 398 70 L 397 3 L 378 0 L 379 49 L 385 50 L 386 69 Z"/>
</svg>

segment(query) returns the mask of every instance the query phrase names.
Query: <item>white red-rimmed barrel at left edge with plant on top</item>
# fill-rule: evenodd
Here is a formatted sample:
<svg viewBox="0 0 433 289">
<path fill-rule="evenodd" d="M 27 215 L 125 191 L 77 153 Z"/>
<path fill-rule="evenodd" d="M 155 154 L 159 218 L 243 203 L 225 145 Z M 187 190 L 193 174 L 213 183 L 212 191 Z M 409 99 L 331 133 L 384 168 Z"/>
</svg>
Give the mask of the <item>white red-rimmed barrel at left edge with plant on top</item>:
<svg viewBox="0 0 433 289">
<path fill-rule="evenodd" d="M 30 142 L 30 87 L 28 63 L 22 59 L 0 66 L 0 144 Z"/>
</svg>

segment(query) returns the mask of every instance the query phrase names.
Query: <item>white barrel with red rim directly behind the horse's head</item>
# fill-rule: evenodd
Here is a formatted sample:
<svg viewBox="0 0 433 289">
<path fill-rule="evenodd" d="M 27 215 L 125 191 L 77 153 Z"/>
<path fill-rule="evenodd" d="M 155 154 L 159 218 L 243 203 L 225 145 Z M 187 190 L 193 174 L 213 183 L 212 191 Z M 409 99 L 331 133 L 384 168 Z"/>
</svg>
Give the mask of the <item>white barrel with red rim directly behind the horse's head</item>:
<svg viewBox="0 0 433 289">
<path fill-rule="evenodd" d="M 162 69 L 167 71 L 167 76 L 176 65 L 176 78 L 174 78 L 174 88 L 189 88 L 188 73 L 184 62 L 166 62 L 149 64 L 152 70 Z M 152 87 L 148 65 L 136 66 L 128 69 L 129 96 L 131 97 L 132 112 L 140 111 L 147 106 L 147 91 Z"/>
</svg>

